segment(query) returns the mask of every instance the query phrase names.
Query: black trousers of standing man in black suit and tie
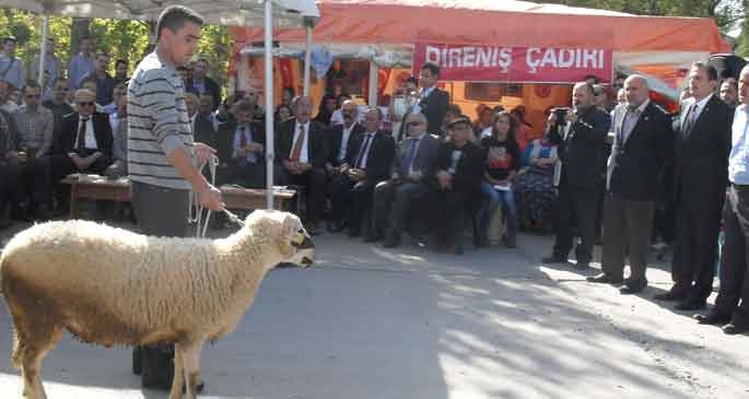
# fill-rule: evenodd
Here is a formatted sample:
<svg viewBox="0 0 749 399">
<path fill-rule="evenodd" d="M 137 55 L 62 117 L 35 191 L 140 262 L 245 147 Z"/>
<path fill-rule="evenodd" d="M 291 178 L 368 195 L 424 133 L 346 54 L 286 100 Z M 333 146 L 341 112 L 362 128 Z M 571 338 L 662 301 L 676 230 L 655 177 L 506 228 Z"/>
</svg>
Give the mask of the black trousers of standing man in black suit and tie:
<svg viewBox="0 0 749 399">
<path fill-rule="evenodd" d="M 675 290 L 686 292 L 689 300 L 705 301 L 713 291 L 717 261 L 717 236 L 721 228 L 723 197 L 702 207 L 677 204 L 677 235 L 671 261 Z"/>
</svg>

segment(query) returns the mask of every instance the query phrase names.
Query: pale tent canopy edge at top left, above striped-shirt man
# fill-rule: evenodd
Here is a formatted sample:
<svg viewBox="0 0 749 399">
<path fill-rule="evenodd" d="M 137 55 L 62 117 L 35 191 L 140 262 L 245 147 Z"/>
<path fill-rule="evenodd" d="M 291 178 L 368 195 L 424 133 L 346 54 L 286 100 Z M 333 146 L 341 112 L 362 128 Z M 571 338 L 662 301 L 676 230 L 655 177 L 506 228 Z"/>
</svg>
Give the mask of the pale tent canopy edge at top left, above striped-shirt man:
<svg viewBox="0 0 749 399">
<path fill-rule="evenodd" d="M 155 21 L 171 4 L 188 7 L 209 24 L 262 26 L 264 0 L 3 0 L 3 7 L 38 14 Z M 314 25 L 320 14 L 314 0 L 272 0 L 278 27 Z"/>
</svg>

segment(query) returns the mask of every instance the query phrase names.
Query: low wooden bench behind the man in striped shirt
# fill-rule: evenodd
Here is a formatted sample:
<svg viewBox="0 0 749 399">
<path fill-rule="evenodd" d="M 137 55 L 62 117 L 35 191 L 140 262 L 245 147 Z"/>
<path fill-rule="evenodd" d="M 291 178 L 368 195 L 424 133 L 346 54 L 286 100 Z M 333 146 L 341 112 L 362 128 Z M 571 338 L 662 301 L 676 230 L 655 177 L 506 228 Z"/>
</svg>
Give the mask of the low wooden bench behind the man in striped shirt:
<svg viewBox="0 0 749 399">
<path fill-rule="evenodd" d="M 119 178 L 116 180 L 107 179 L 97 175 L 71 175 L 62 179 L 63 184 L 70 185 L 70 218 L 78 218 L 79 200 L 109 200 L 109 201 L 130 201 L 130 180 Z M 224 185 L 220 187 L 226 209 L 254 210 L 266 208 L 266 190 L 254 188 L 241 188 Z M 294 189 L 282 186 L 273 187 L 273 209 L 288 209 L 292 201 L 296 201 L 299 209 L 299 198 Z"/>
</svg>

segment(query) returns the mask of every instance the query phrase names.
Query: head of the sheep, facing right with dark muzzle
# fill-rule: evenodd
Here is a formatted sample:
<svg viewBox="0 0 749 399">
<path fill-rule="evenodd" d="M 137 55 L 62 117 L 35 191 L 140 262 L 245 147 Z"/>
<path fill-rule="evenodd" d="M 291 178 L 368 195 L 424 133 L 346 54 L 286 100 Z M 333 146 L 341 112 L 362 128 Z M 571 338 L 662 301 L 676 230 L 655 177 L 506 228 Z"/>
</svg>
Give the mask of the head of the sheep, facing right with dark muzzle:
<svg viewBox="0 0 749 399">
<path fill-rule="evenodd" d="M 268 232 L 278 243 L 283 263 L 306 268 L 315 260 L 315 243 L 293 213 L 256 210 L 247 216 L 245 226 Z"/>
</svg>

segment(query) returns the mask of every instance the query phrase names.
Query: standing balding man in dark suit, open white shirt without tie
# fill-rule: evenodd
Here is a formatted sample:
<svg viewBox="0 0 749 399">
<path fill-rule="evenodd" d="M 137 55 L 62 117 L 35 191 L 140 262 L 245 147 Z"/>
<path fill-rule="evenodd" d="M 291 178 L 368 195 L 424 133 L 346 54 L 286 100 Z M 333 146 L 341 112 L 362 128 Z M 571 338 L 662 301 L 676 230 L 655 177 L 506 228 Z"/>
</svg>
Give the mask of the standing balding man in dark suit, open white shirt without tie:
<svg viewBox="0 0 749 399">
<path fill-rule="evenodd" d="M 624 81 L 627 104 L 613 112 L 613 145 L 608 162 L 610 193 L 604 215 L 604 273 L 588 278 L 596 283 L 621 284 L 621 293 L 647 286 L 647 249 L 658 186 L 672 156 L 674 133 L 669 116 L 649 101 L 645 78 Z M 624 258 L 631 274 L 623 280 Z"/>
</svg>

